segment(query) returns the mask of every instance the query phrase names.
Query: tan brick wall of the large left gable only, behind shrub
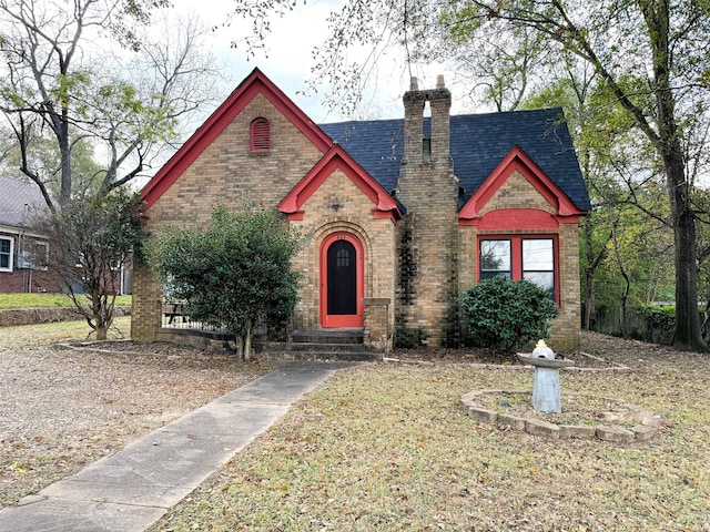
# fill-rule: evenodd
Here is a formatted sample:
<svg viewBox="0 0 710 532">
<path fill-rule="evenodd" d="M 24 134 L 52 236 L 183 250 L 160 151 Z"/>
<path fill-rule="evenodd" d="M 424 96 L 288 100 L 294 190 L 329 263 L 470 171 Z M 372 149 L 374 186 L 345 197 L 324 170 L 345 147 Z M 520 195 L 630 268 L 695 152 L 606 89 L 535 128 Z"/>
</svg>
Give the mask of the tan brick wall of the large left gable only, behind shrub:
<svg viewBox="0 0 710 532">
<path fill-rule="evenodd" d="M 271 123 L 272 149 L 250 152 L 250 124 Z M 266 98 L 257 94 L 163 193 L 148 212 L 145 229 L 204 227 L 212 207 L 239 208 L 250 198 L 266 207 L 278 202 L 313 167 L 322 153 Z M 160 327 L 162 286 L 150 268 L 133 273 L 133 328 L 138 340 L 152 341 Z"/>
</svg>

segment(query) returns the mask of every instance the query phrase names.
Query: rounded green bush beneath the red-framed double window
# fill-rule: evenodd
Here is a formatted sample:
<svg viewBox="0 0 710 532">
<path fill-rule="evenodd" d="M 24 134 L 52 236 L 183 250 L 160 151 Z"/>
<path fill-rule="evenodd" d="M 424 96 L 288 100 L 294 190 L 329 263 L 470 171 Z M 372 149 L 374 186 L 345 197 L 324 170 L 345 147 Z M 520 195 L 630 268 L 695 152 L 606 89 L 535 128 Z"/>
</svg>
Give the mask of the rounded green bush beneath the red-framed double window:
<svg viewBox="0 0 710 532">
<path fill-rule="evenodd" d="M 501 351 L 547 338 L 558 313 L 547 290 L 506 277 L 481 280 L 464 293 L 459 305 L 470 341 Z"/>
</svg>

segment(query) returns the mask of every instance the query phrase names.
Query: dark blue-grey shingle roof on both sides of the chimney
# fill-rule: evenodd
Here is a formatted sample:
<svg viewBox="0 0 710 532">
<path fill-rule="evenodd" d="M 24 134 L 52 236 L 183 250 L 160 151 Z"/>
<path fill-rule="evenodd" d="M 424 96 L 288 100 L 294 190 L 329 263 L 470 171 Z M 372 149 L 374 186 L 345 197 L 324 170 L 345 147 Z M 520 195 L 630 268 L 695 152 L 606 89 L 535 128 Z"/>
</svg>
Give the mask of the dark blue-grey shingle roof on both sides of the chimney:
<svg viewBox="0 0 710 532">
<path fill-rule="evenodd" d="M 429 119 L 425 119 L 425 134 Z M 395 188 L 404 145 L 404 120 L 322 124 L 387 191 Z M 467 114 L 450 117 L 454 173 L 468 200 L 516 145 L 582 211 L 589 196 L 561 109 Z"/>
</svg>

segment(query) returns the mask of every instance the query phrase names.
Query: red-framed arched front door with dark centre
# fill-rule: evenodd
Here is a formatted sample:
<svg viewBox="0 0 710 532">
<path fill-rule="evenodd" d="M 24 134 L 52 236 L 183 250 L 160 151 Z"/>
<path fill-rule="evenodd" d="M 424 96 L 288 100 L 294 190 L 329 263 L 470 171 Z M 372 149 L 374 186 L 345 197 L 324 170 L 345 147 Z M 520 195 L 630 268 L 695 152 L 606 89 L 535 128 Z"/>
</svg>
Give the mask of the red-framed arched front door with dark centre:
<svg viewBox="0 0 710 532">
<path fill-rule="evenodd" d="M 363 326 L 363 245 L 352 233 L 328 235 L 321 247 L 321 324 Z"/>
</svg>

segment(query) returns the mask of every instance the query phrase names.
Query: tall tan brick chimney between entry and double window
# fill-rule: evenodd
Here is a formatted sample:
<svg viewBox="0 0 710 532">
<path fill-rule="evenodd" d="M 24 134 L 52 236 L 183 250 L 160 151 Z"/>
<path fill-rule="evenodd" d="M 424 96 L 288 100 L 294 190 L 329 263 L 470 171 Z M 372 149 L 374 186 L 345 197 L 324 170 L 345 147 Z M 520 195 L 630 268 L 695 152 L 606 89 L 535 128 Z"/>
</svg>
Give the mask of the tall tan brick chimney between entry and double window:
<svg viewBox="0 0 710 532">
<path fill-rule="evenodd" d="M 436 89 L 413 78 L 404 96 L 404 156 L 397 198 L 407 209 L 399 227 L 397 329 L 400 345 L 440 346 L 456 335 L 458 181 L 449 153 L 452 93 L 439 75 Z M 424 114 L 430 110 L 430 135 Z"/>
</svg>

